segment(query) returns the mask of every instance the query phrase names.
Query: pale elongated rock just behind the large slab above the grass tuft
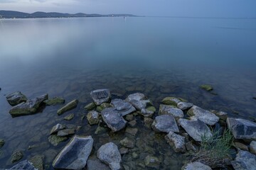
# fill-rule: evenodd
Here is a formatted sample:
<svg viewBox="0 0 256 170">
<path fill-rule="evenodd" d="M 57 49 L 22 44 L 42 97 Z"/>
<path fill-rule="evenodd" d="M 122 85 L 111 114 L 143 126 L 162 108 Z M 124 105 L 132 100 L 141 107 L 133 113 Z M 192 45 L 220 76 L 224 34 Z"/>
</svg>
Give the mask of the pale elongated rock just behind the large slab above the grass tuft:
<svg viewBox="0 0 256 170">
<path fill-rule="evenodd" d="M 190 108 L 187 114 L 192 116 L 192 120 L 201 120 L 207 125 L 215 125 L 215 123 L 218 123 L 218 120 L 220 119 L 215 114 L 210 113 L 203 108 L 199 108 L 198 106 Z"/>
</svg>

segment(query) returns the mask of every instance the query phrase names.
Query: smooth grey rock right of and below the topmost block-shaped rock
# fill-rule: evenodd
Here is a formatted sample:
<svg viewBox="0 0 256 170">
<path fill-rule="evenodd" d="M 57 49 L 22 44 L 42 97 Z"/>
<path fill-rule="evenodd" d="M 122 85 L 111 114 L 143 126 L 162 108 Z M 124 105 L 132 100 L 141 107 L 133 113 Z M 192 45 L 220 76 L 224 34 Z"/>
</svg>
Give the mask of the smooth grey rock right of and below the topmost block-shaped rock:
<svg viewBox="0 0 256 170">
<path fill-rule="evenodd" d="M 136 111 L 134 106 L 126 101 L 123 101 L 122 99 L 116 98 L 111 101 L 111 104 L 122 116 L 128 115 L 129 113 L 133 113 L 134 111 Z"/>
</svg>

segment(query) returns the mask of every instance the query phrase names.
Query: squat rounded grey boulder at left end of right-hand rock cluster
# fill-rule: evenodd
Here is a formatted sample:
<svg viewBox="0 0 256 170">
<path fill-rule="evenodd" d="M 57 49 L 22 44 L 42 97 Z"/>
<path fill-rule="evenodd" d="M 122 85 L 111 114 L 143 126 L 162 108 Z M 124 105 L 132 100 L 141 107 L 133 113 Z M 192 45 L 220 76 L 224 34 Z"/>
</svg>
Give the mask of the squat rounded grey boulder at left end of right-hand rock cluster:
<svg viewBox="0 0 256 170">
<path fill-rule="evenodd" d="M 156 116 L 151 128 L 156 132 L 179 132 L 174 116 L 172 115 Z"/>
</svg>

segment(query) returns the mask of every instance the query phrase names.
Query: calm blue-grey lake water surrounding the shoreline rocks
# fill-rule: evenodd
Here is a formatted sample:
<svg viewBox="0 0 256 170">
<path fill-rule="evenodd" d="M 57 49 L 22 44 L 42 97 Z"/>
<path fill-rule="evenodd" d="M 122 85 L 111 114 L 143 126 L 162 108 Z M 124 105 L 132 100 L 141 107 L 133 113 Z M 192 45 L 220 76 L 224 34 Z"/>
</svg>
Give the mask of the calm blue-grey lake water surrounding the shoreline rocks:
<svg viewBox="0 0 256 170">
<path fill-rule="evenodd" d="M 125 133 L 95 135 L 83 107 L 90 91 L 108 88 L 120 98 L 146 94 L 156 108 L 162 98 L 178 96 L 230 117 L 256 118 L 256 22 L 253 19 L 210 18 L 50 18 L 0 20 L 0 168 L 10 157 L 44 155 L 46 169 L 67 144 L 53 147 L 49 132 L 57 123 L 82 126 L 78 135 L 92 135 L 92 155 L 106 142 L 118 146 Z M 198 86 L 211 84 L 214 94 Z M 28 98 L 48 93 L 66 101 L 77 98 L 73 111 L 58 116 L 60 106 L 12 118 L 6 94 L 21 91 Z M 114 96 L 117 98 L 117 96 Z M 63 120 L 75 113 L 73 120 Z M 122 157 L 131 169 L 144 169 L 146 155 L 161 159 L 160 169 L 180 169 L 186 156 L 174 153 L 163 134 L 144 127 L 139 116 L 137 147 Z M 28 150 L 30 145 L 38 145 Z M 22 160 L 23 160 L 22 159 Z M 136 168 L 135 168 L 136 167 Z"/>
</svg>

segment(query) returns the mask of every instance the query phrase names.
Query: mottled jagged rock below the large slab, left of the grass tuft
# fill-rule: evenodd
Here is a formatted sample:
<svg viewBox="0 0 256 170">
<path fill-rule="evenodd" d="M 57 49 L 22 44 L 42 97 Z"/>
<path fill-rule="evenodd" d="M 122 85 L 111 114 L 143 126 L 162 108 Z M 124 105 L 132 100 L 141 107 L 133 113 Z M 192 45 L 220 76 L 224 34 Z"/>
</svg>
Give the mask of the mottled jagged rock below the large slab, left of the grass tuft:
<svg viewBox="0 0 256 170">
<path fill-rule="evenodd" d="M 166 141 L 173 147 L 174 152 L 186 152 L 185 137 L 176 135 L 174 132 L 169 132 L 165 136 Z"/>
</svg>

